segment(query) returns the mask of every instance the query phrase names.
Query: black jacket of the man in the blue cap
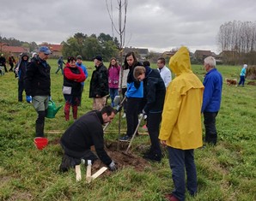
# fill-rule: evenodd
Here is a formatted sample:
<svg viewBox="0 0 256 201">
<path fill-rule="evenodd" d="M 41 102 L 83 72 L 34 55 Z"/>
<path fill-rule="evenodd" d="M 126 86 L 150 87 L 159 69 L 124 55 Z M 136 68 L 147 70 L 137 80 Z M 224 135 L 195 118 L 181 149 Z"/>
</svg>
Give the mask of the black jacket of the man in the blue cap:
<svg viewBox="0 0 256 201">
<path fill-rule="evenodd" d="M 50 65 L 36 57 L 27 64 L 25 91 L 27 96 L 51 96 Z"/>
</svg>

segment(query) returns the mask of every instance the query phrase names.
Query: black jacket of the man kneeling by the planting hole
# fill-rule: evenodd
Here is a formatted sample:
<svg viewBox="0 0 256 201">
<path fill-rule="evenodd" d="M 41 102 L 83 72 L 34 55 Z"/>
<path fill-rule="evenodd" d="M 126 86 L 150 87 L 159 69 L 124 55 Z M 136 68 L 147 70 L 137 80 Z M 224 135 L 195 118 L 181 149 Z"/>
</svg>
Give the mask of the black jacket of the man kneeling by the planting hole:
<svg viewBox="0 0 256 201">
<path fill-rule="evenodd" d="M 104 150 L 103 119 L 100 111 L 90 111 L 76 120 L 61 137 L 70 151 L 86 151 L 92 145 L 103 163 L 109 165 L 112 160 Z"/>
</svg>

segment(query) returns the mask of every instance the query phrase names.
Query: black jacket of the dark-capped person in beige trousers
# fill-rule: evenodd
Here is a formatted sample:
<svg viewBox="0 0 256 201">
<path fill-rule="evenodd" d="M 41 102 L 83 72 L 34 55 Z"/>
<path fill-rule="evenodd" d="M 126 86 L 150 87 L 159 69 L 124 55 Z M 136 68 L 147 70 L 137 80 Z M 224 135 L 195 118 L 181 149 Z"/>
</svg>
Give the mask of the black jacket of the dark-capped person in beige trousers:
<svg viewBox="0 0 256 201">
<path fill-rule="evenodd" d="M 102 62 L 95 68 L 90 80 L 89 98 L 96 98 L 96 95 L 102 98 L 108 94 L 108 71 Z"/>
</svg>

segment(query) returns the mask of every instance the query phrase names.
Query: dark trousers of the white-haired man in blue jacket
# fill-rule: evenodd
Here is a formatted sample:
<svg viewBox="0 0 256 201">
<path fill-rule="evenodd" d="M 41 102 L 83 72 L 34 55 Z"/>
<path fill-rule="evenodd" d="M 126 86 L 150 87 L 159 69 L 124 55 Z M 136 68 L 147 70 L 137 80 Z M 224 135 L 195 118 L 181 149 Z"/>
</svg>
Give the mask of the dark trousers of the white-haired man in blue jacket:
<svg viewBox="0 0 256 201">
<path fill-rule="evenodd" d="M 204 112 L 205 142 L 216 145 L 216 115 L 218 112 Z"/>
</svg>

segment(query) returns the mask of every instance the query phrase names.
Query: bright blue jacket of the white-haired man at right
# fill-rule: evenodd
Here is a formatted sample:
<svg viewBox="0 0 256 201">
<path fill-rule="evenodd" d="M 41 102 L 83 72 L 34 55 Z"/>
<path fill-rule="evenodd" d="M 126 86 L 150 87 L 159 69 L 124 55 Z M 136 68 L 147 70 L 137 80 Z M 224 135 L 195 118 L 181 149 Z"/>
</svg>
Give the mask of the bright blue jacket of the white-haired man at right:
<svg viewBox="0 0 256 201">
<path fill-rule="evenodd" d="M 204 97 L 202 112 L 217 112 L 222 100 L 222 74 L 216 68 L 211 69 L 204 77 Z"/>
</svg>

